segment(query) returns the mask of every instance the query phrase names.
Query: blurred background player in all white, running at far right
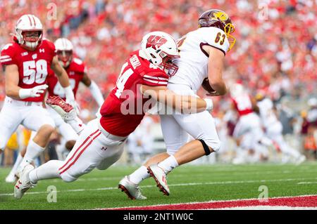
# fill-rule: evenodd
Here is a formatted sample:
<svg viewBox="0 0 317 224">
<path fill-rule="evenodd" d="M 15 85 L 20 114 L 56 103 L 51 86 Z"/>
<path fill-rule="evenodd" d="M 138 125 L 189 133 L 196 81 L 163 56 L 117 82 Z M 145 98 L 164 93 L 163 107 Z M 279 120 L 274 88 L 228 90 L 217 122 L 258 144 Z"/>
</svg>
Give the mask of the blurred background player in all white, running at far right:
<svg viewBox="0 0 317 224">
<path fill-rule="evenodd" d="M 295 164 L 304 162 L 306 157 L 285 142 L 282 136 L 282 123 L 278 120 L 272 100 L 264 97 L 263 93 L 257 93 L 256 100 L 266 136 L 280 148 L 283 154 L 282 162 L 293 161 Z"/>
</svg>

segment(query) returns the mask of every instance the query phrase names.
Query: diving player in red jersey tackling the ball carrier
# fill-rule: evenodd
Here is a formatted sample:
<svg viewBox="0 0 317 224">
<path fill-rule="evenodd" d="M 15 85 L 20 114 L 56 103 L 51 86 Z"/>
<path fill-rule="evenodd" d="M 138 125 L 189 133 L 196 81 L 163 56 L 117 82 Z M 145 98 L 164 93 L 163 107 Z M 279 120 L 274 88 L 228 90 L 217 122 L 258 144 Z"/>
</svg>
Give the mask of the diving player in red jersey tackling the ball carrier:
<svg viewBox="0 0 317 224">
<path fill-rule="evenodd" d="M 15 198 L 23 197 L 38 180 L 61 178 L 72 182 L 94 168 L 107 169 L 120 158 L 125 140 L 142 121 L 146 110 L 151 108 L 151 102 L 157 100 L 176 110 L 192 108 L 189 112 L 210 110 L 211 100 L 195 96 L 178 98 L 173 91 L 167 90 L 168 78 L 177 70 L 170 61 L 178 57 L 178 46 L 170 35 L 151 32 L 144 36 L 142 49 L 132 52 L 125 61 L 116 87 L 101 107 L 101 117 L 90 121 L 81 131 L 64 162 L 51 160 L 37 169 L 28 165 L 18 180 L 19 187 L 14 188 Z M 66 121 L 74 119 L 73 108 L 63 100 L 53 98 L 49 101 L 47 103 L 55 107 Z"/>
</svg>

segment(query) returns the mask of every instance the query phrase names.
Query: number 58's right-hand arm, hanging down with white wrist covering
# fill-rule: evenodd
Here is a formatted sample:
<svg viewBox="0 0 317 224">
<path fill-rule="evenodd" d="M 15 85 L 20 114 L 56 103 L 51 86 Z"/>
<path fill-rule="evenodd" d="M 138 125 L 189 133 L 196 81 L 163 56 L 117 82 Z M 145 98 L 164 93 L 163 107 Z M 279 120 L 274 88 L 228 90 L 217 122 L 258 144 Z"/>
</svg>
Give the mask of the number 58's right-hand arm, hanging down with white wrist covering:
<svg viewBox="0 0 317 224">
<path fill-rule="evenodd" d="M 55 56 L 51 62 L 51 69 L 55 72 L 59 83 L 64 88 L 65 95 L 66 95 L 66 102 L 70 103 L 71 105 L 75 107 L 75 96 L 73 93 L 73 89 L 70 86 L 67 72 L 59 64 L 57 56 Z"/>
</svg>

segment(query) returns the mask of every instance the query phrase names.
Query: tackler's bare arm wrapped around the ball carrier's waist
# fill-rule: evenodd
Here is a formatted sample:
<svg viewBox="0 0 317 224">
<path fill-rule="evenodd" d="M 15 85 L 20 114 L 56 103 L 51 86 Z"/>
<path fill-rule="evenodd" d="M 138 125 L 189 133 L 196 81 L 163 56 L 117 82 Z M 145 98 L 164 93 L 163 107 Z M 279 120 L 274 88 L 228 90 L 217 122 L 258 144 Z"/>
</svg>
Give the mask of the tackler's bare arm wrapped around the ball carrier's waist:
<svg viewBox="0 0 317 224">
<path fill-rule="evenodd" d="M 146 86 L 142 85 L 140 91 L 144 95 L 150 95 L 160 103 L 164 103 L 173 109 L 184 114 L 203 112 L 211 110 L 213 103 L 211 99 L 201 99 L 192 95 L 178 95 L 170 91 L 166 86 Z"/>
</svg>

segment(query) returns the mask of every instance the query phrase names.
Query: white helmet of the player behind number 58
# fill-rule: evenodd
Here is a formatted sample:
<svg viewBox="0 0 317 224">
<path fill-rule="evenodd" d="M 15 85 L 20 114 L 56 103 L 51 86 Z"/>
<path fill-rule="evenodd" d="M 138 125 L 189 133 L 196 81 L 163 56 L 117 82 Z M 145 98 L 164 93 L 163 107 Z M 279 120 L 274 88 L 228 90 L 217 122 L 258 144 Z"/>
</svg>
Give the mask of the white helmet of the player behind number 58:
<svg viewBox="0 0 317 224">
<path fill-rule="evenodd" d="M 54 42 L 58 61 L 63 67 L 68 67 L 73 59 L 73 44 L 66 38 L 56 39 Z"/>
</svg>

